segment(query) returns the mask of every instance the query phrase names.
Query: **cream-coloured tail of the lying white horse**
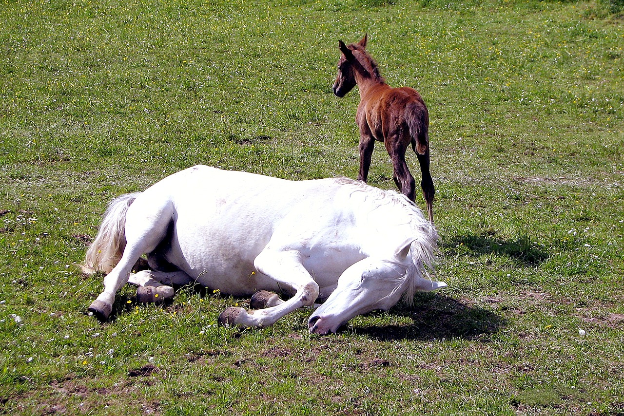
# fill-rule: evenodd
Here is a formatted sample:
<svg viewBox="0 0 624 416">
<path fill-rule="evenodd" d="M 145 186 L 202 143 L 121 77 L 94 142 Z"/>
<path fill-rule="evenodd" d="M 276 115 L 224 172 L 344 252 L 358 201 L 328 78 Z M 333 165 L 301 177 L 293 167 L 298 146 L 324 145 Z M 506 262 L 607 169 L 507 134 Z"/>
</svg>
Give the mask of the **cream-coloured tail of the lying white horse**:
<svg viewBox="0 0 624 416">
<path fill-rule="evenodd" d="M 97 237 L 87 249 L 85 261 L 81 265 L 83 273 L 102 271 L 109 274 L 119 263 L 126 244 L 125 215 L 137 196 L 139 192 L 128 193 L 110 201 Z"/>
</svg>

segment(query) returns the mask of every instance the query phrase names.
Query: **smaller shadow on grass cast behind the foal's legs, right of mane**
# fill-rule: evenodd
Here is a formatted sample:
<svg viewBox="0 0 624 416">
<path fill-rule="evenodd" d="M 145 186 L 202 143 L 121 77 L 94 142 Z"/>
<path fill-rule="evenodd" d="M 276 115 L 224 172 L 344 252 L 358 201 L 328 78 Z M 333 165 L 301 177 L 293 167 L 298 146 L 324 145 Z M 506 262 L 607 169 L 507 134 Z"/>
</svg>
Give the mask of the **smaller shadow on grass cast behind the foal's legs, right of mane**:
<svg viewBox="0 0 624 416">
<path fill-rule="evenodd" d="M 539 249 L 527 236 L 520 236 L 515 240 L 504 240 L 487 234 L 466 235 L 444 241 L 441 246 L 446 253 L 459 256 L 495 254 L 507 256 L 525 266 L 537 266 L 550 257 L 550 254 Z"/>
</svg>

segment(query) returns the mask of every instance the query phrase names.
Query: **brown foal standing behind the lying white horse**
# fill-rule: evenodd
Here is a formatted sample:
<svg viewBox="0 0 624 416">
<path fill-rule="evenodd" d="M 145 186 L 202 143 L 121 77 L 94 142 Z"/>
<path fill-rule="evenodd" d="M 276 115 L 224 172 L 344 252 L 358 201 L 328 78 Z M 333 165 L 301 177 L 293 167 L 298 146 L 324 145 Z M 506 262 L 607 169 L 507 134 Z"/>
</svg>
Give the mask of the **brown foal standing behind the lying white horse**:
<svg viewBox="0 0 624 416">
<path fill-rule="evenodd" d="M 433 223 L 433 198 L 436 188 L 429 173 L 429 112 L 422 97 L 409 87 L 392 88 L 379 74 L 376 62 L 366 52 L 368 37 L 346 46 L 338 41 L 342 55 L 334 94 L 344 97 L 359 85 L 360 102 L 356 121 L 359 126 L 358 180 L 366 181 L 371 167 L 375 140 L 384 142 L 392 160 L 392 178 L 401 193 L 414 201 L 416 183 L 405 162 L 407 147 L 412 145 L 421 165 L 422 195 Z"/>
</svg>

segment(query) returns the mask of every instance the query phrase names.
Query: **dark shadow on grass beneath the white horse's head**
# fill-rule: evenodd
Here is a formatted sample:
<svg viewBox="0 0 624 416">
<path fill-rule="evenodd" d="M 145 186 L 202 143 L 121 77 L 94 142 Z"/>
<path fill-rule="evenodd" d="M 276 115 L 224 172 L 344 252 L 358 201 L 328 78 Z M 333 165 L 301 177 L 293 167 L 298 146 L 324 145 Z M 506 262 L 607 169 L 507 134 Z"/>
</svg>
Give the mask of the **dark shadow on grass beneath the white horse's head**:
<svg viewBox="0 0 624 416">
<path fill-rule="evenodd" d="M 414 306 L 394 307 L 387 313 L 409 317 L 413 324 L 352 327 L 351 331 L 366 334 L 378 341 L 401 339 L 434 341 L 442 338 L 487 341 L 490 335 L 506 325 L 505 319 L 492 311 L 467 306 L 452 297 L 440 294 L 417 294 Z"/>
</svg>

